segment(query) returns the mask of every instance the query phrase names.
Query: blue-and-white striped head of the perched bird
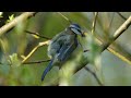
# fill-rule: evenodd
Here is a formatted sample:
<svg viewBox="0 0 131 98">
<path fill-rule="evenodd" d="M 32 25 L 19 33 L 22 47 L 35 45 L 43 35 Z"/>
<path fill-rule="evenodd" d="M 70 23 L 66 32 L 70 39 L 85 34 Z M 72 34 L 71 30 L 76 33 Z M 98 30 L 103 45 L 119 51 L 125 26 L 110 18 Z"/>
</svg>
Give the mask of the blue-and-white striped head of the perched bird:
<svg viewBox="0 0 131 98">
<path fill-rule="evenodd" d="M 81 27 L 80 27 L 79 24 L 71 24 L 71 25 L 69 26 L 69 28 L 70 28 L 74 34 L 76 34 L 76 35 L 81 35 L 82 37 L 85 36 L 85 35 L 82 33 L 82 29 L 81 29 Z"/>
</svg>

